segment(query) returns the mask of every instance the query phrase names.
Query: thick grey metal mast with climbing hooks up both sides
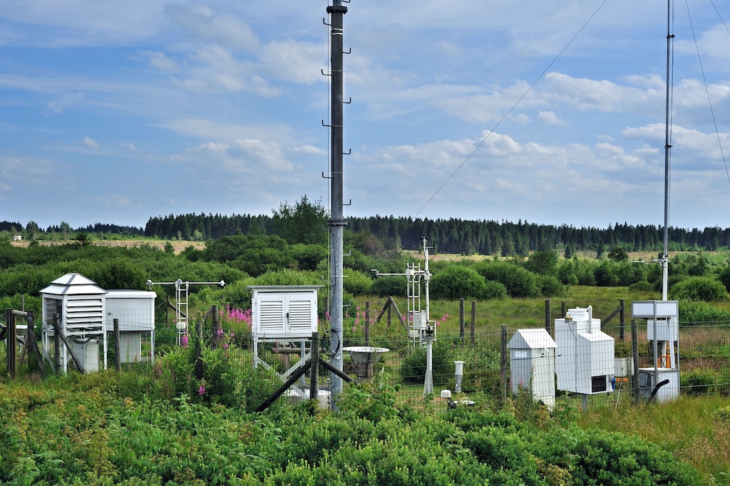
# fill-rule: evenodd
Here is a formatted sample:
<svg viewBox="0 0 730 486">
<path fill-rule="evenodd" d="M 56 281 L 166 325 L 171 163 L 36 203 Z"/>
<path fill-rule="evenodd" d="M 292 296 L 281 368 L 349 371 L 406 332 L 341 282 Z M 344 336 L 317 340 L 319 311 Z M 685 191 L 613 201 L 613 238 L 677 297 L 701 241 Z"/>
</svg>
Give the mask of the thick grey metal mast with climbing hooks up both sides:
<svg viewBox="0 0 730 486">
<path fill-rule="evenodd" d="M 342 234 L 347 224 L 342 215 L 342 53 L 343 31 L 342 18 L 347 13 L 347 7 L 342 6 L 342 0 L 333 0 L 331 7 L 327 7 L 330 15 L 331 37 L 331 339 L 337 352 L 331 358 L 335 369 L 342 371 Z M 336 344 L 335 344 L 336 343 Z M 331 373 L 332 409 L 337 410 L 337 395 L 342 392 L 342 379 Z"/>
</svg>

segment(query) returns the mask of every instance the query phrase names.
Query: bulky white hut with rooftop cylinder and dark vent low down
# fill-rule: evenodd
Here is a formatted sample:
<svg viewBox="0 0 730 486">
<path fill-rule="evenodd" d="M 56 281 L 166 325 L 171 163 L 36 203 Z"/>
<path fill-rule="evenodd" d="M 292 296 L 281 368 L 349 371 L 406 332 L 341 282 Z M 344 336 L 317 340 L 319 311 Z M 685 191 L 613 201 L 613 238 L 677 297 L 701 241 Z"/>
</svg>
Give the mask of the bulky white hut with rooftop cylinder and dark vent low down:
<svg viewBox="0 0 730 486">
<path fill-rule="evenodd" d="M 601 331 L 593 307 L 569 309 L 555 320 L 558 390 L 581 395 L 613 390 L 614 339 Z"/>
</svg>

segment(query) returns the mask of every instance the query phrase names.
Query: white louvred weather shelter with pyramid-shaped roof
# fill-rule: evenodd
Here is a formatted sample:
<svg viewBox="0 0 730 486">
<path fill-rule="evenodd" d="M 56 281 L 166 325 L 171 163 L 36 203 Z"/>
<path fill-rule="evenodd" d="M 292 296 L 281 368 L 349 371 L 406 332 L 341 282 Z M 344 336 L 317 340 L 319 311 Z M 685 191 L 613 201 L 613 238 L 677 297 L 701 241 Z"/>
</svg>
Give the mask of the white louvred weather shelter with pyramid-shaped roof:
<svg viewBox="0 0 730 486">
<path fill-rule="evenodd" d="M 80 274 L 66 274 L 53 280 L 40 291 L 42 296 L 42 344 L 50 359 L 54 344 L 53 316 L 69 341 L 84 371 L 99 371 L 99 341 L 104 349 L 103 363 L 107 368 L 107 332 L 104 328 L 104 296 L 107 291 Z M 54 344 L 55 345 L 55 344 Z M 71 358 L 63 341 L 59 344 L 61 369 L 68 370 Z"/>
</svg>

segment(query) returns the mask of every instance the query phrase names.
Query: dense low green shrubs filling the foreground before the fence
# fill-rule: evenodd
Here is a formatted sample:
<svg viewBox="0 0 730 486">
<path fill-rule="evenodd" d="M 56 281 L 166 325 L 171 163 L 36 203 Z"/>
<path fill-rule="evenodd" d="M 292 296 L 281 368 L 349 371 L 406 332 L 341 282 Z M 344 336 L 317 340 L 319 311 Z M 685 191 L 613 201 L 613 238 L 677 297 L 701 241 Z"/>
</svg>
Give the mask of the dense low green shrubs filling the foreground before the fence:
<svg viewBox="0 0 730 486">
<path fill-rule="evenodd" d="M 230 369 L 209 379 L 231 379 L 238 405 L 220 404 L 223 390 L 180 393 L 190 384 L 173 377 L 189 372 L 189 356 L 169 352 L 159 375 L 1 384 L 3 484 L 711 484 L 660 445 L 581 428 L 569 410 L 550 417 L 527 396 L 478 395 L 476 406 L 449 411 L 429 402 L 416 412 L 376 382 L 348 387 L 337 414 L 310 404 L 256 414 L 246 398 L 267 380 L 238 385 L 246 377 L 234 381 Z"/>
</svg>

